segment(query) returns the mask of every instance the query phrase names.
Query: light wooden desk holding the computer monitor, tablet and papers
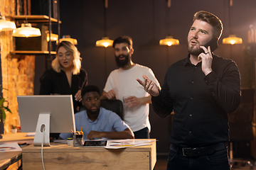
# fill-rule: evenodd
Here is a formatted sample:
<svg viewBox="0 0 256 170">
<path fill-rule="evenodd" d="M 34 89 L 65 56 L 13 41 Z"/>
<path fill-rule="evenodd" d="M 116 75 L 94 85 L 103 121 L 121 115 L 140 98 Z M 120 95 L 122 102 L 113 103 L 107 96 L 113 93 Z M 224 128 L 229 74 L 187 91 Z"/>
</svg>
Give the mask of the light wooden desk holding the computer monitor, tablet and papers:
<svg viewBox="0 0 256 170">
<path fill-rule="evenodd" d="M 54 144 L 43 148 L 46 169 L 136 169 L 152 170 L 156 164 L 156 141 L 152 145 L 105 149 Z M 43 169 L 41 147 L 29 145 L 22 149 L 23 169 Z"/>
</svg>

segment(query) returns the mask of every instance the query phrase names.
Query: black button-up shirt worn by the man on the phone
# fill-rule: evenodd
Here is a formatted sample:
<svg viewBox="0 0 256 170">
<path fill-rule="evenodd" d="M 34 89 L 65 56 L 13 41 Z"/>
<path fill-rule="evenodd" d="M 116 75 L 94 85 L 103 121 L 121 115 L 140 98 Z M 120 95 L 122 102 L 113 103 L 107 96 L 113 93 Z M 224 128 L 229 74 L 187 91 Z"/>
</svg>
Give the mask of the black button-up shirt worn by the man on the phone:
<svg viewBox="0 0 256 170">
<path fill-rule="evenodd" d="M 162 118 L 174 111 L 170 142 L 179 147 L 203 147 L 228 142 L 228 113 L 240 104 L 240 73 L 232 60 L 213 56 L 212 69 L 180 60 L 169 67 L 154 111 Z"/>
</svg>

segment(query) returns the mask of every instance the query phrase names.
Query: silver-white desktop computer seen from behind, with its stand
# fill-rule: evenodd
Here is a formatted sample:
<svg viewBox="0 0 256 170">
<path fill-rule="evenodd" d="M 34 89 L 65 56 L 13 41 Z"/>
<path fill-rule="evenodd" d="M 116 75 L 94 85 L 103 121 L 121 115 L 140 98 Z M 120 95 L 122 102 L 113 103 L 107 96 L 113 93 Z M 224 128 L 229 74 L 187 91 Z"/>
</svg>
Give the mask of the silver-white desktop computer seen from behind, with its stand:
<svg viewBox="0 0 256 170">
<path fill-rule="evenodd" d="M 72 95 L 17 96 L 21 132 L 36 132 L 34 146 L 50 146 L 50 132 L 75 132 Z"/>
</svg>

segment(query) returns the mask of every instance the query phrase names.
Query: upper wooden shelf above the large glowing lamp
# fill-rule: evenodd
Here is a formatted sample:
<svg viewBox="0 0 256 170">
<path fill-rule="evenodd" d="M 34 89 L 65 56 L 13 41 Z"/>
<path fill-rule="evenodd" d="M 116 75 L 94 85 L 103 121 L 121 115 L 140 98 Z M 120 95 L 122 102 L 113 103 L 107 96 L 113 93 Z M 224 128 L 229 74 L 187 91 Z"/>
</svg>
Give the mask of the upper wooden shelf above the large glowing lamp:
<svg viewBox="0 0 256 170">
<path fill-rule="evenodd" d="M 16 20 L 28 20 L 28 23 L 48 23 L 49 17 L 44 15 L 31 15 L 31 16 L 12 16 Z M 58 20 L 55 18 L 50 18 L 50 22 L 58 23 Z M 59 21 L 61 23 L 61 21 Z"/>
</svg>

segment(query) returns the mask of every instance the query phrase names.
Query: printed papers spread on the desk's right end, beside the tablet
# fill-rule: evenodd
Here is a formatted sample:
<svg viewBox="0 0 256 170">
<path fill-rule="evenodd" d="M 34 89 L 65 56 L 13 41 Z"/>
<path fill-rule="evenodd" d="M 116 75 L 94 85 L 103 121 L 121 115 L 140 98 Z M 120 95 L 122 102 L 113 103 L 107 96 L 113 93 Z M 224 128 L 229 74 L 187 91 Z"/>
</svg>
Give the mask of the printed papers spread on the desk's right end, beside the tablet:
<svg viewBox="0 0 256 170">
<path fill-rule="evenodd" d="M 106 149 L 119 149 L 125 147 L 139 147 L 144 145 L 151 145 L 149 142 L 155 140 L 107 140 Z"/>
</svg>

